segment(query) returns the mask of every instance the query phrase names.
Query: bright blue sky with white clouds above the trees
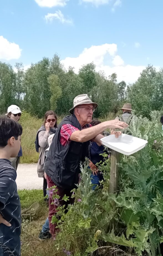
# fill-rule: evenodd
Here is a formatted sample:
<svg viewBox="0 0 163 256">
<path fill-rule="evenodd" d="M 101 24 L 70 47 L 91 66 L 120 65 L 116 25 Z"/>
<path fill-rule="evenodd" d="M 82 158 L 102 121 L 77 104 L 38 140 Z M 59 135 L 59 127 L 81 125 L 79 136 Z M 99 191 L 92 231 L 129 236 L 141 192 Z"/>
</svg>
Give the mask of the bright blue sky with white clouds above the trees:
<svg viewBox="0 0 163 256">
<path fill-rule="evenodd" d="M 132 83 L 147 64 L 163 67 L 162 10 L 162 0 L 1 1 L 0 61 L 27 68 L 58 53 L 75 72 L 94 61 Z"/>
</svg>

